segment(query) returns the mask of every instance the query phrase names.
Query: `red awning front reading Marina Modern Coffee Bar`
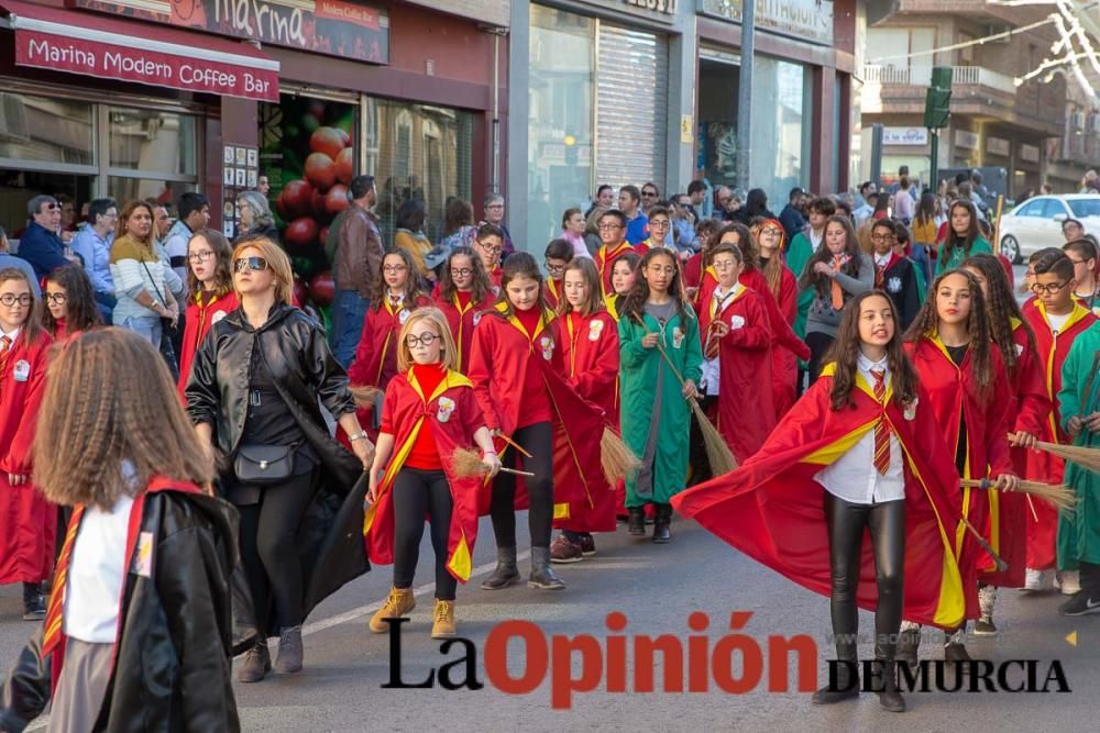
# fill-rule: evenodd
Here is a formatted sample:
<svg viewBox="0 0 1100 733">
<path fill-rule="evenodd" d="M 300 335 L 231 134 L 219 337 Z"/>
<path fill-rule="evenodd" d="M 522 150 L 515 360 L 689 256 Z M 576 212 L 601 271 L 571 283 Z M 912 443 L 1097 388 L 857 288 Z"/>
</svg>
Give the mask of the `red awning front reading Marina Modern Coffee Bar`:
<svg viewBox="0 0 1100 733">
<path fill-rule="evenodd" d="M 187 91 L 278 101 L 277 64 L 260 64 L 245 56 L 204 53 L 200 48 L 145 38 L 88 40 L 95 32 L 76 34 L 73 30 L 67 29 L 62 35 L 16 27 L 15 63 Z"/>
</svg>

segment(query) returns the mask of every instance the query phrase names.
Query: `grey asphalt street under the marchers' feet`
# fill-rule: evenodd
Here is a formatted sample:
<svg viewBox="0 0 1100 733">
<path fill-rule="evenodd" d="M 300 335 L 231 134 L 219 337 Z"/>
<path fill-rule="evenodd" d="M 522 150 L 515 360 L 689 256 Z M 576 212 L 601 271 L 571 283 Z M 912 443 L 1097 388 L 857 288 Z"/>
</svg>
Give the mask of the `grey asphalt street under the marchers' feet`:
<svg viewBox="0 0 1100 733">
<path fill-rule="evenodd" d="M 1100 615 L 1082 619 L 1057 615 L 1055 609 L 1062 597 L 1053 590 L 1037 595 L 1001 591 L 997 611 L 1001 635 L 993 640 L 970 637 L 968 647 L 974 656 L 994 662 L 1040 660 L 1040 685 L 1050 660 L 1058 659 L 1071 692 L 916 692 L 908 696 L 910 711 L 903 715 L 882 711 L 873 693 L 864 693 L 858 701 L 823 709 L 811 706 L 809 693 L 768 691 L 768 637 L 812 636 L 820 649 L 813 665 L 816 681 L 824 684 L 825 659 L 831 656 L 827 599 L 803 590 L 715 540 L 693 522 L 679 518 L 673 523 L 673 542 L 669 545 L 629 537 L 619 527 L 614 535 L 597 535 L 597 549 L 596 556 L 582 563 L 557 566 L 569 584 L 564 591 L 536 591 L 526 585 L 496 592 L 481 590 L 479 582 L 495 557 L 492 530 L 488 520 L 483 520 L 474 555 L 475 577 L 468 586 L 460 587 L 458 596 L 459 635 L 476 646 L 476 677 L 485 685 L 480 690 L 449 691 L 439 686 L 382 688 L 391 675 L 389 638 L 371 634 L 366 619 L 385 598 L 391 573 L 388 567 L 375 568 L 315 610 L 305 629 L 302 673 L 235 686 L 244 730 L 421 731 L 429 725 L 446 726 L 449 731 L 816 731 L 880 726 L 968 732 L 1009 728 L 1094 730 L 1096 699 L 1100 693 L 1097 671 Z M 520 553 L 526 571 L 529 562 L 526 548 L 520 547 Z M 415 582 L 418 604 L 402 635 L 402 675 L 408 684 L 422 681 L 431 667 L 463 655 L 457 648 L 443 655 L 440 642 L 429 638 L 432 555 L 427 541 L 420 556 Z M 0 659 L 4 668 L 32 630 L 32 624 L 18 620 L 19 606 L 16 587 L 0 589 Z M 526 695 L 508 695 L 490 685 L 485 673 L 485 638 L 497 624 L 509 620 L 531 622 L 546 638 L 554 634 L 569 637 L 592 634 L 598 646 L 606 649 L 609 632 L 605 618 L 613 611 L 626 615 L 623 633 L 628 638 L 632 634 L 671 634 L 680 638 L 683 648 L 688 648 L 689 634 L 694 633 L 688 628 L 689 615 L 703 612 L 710 618 L 710 630 L 705 633 L 710 635 L 712 651 L 730 633 L 730 613 L 750 612 L 743 631 L 762 651 L 763 678 L 756 689 L 744 695 L 721 691 L 714 678 L 707 680 L 710 691 L 705 693 L 666 692 L 661 681 L 663 666 L 658 663 L 657 691 L 634 692 L 631 652 L 627 655 L 626 693 L 607 691 L 604 666 L 593 691 L 575 693 L 572 707 L 566 710 L 551 707 L 549 674 Z M 861 613 L 860 624 L 861 630 L 870 630 L 870 614 Z M 1071 636 L 1074 633 L 1076 637 Z M 930 631 L 922 657 L 942 656 L 935 643 L 937 634 Z M 510 676 L 520 679 L 525 671 L 532 674 L 526 668 L 524 644 L 514 640 L 507 648 Z M 867 643 L 860 649 L 862 656 L 870 654 Z M 740 676 L 740 658 L 735 656 L 733 663 L 735 678 Z M 461 681 L 462 665 L 458 667 L 454 677 Z M 557 668 L 559 675 L 564 674 L 565 665 L 559 664 Z M 532 669 L 534 674 L 541 671 L 537 665 Z M 580 677 L 578 663 L 571 670 Z M 1022 679 L 1019 670 L 1011 676 Z M 793 670 L 790 678 L 793 690 Z M 43 729 L 40 719 L 31 730 Z"/>
</svg>

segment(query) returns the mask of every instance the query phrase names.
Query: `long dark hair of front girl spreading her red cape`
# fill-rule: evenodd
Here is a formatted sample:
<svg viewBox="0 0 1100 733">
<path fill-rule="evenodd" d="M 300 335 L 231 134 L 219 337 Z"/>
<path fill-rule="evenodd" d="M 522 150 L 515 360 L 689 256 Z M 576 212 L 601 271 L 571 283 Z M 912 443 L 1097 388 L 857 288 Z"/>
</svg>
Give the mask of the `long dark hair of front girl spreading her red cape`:
<svg viewBox="0 0 1100 733">
<path fill-rule="evenodd" d="M 890 316 L 894 322 L 894 333 L 887 344 L 887 365 L 890 367 L 890 384 L 893 389 L 895 404 L 904 406 L 916 398 L 916 369 L 905 355 L 902 347 L 901 322 L 894 312 L 893 300 L 882 290 L 868 290 L 854 297 L 844 309 L 840 325 L 837 327 L 836 340 L 825 355 L 825 363 L 836 363 L 833 373 L 833 388 L 829 390 L 829 402 L 834 410 L 855 408 L 851 390 L 856 387 L 856 375 L 859 373 L 859 312 L 868 298 L 882 298 L 890 306 Z"/>
</svg>

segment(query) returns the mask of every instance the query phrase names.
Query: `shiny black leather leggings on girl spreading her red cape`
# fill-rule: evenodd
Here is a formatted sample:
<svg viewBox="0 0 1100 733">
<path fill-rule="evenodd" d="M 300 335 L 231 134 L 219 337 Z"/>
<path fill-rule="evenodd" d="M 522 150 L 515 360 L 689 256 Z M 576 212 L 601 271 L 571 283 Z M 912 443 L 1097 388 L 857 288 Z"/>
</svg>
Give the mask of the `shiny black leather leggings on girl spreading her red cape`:
<svg viewBox="0 0 1100 733">
<path fill-rule="evenodd" d="M 871 534 L 879 604 L 875 609 L 875 658 L 893 659 L 898 648 L 905 577 L 905 502 L 854 504 L 825 491 L 833 593 L 829 611 L 838 659 L 857 659 L 859 555 L 864 527 Z"/>
</svg>

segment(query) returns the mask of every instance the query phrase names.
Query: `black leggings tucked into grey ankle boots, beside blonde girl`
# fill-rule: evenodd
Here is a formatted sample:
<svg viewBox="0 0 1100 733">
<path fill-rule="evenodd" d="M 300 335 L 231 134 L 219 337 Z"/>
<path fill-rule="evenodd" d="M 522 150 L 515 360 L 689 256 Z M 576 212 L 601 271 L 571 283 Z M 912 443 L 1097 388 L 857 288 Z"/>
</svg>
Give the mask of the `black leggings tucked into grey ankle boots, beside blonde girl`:
<svg viewBox="0 0 1100 733">
<path fill-rule="evenodd" d="M 550 546 L 550 525 L 553 522 L 553 427 L 539 422 L 520 427 L 512 440 L 534 457 L 522 456 L 522 469 L 535 474 L 525 477 L 528 510 L 527 525 L 531 533 L 531 547 Z M 509 447 L 504 453 L 506 468 L 517 468 L 518 451 Z M 516 546 L 516 477 L 499 473 L 493 480 L 493 500 L 490 503 L 493 534 L 497 547 Z"/>
</svg>

